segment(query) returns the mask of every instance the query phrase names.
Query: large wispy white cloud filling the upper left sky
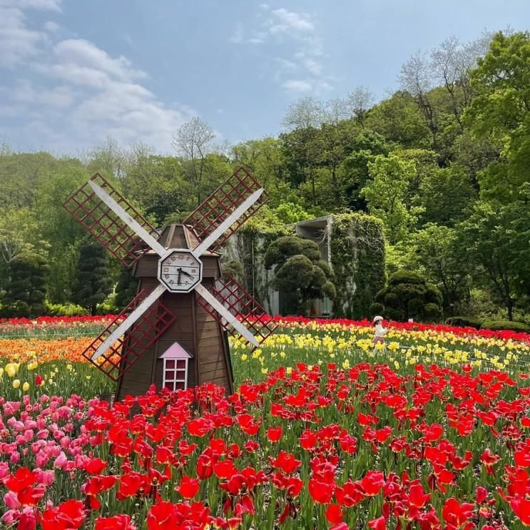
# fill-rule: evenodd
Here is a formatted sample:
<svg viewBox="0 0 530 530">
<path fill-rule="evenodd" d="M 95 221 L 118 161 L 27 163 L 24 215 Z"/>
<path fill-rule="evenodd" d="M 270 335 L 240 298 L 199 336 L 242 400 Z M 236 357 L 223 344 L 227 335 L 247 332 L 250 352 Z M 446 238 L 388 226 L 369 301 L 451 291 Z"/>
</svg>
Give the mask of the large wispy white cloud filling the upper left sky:
<svg viewBox="0 0 530 530">
<path fill-rule="evenodd" d="M 20 63 L 32 74 L 31 81 L 0 81 L 0 136 L 14 132 L 5 119 L 20 118 L 21 142 L 34 142 L 23 148 L 63 153 L 110 136 L 169 152 L 172 136 L 193 109 L 166 106 L 143 84 L 148 74 L 126 56 L 111 56 L 85 39 L 53 42 L 60 29 L 53 21 L 43 31 L 29 27 L 24 9 L 60 6 L 60 0 L 0 0 L 0 68 Z"/>
</svg>

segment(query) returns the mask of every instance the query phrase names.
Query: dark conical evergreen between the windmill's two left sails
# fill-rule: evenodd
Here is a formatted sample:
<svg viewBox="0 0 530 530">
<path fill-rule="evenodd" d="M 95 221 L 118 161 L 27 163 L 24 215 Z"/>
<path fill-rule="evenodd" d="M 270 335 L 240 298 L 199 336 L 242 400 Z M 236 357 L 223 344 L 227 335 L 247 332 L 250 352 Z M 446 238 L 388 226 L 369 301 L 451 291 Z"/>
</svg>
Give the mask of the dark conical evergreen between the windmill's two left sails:
<svg viewBox="0 0 530 530">
<path fill-rule="evenodd" d="M 93 240 L 85 240 L 79 248 L 73 302 L 96 315 L 98 304 L 111 293 L 112 285 L 106 250 Z"/>
</svg>

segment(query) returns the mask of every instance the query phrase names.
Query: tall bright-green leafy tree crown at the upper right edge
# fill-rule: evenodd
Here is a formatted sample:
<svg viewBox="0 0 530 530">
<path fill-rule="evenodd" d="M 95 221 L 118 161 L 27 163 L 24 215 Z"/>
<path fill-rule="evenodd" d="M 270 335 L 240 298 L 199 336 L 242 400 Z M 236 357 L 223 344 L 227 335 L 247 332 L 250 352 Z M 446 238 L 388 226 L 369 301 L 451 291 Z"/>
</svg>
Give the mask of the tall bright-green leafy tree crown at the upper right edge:
<svg viewBox="0 0 530 530">
<path fill-rule="evenodd" d="M 501 146 L 499 160 L 479 174 L 481 196 L 509 203 L 530 181 L 530 32 L 495 34 L 472 71 L 475 96 L 464 121 L 477 138 Z"/>
</svg>

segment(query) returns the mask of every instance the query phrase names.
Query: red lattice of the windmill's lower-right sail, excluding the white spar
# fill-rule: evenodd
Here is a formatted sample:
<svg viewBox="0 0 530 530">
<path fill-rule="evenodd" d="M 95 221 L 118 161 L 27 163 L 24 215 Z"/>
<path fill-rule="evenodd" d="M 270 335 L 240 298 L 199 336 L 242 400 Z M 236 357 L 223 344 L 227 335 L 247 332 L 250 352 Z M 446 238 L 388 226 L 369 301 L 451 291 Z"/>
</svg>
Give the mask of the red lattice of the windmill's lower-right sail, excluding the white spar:
<svg viewBox="0 0 530 530">
<path fill-rule="evenodd" d="M 208 290 L 221 302 L 228 311 L 255 336 L 261 344 L 278 327 L 265 309 L 260 305 L 245 287 L 240 285 L 232 276 L 226 275 L 222 279 L 215 281 L 215 284 L 208 287 Z M 229 322 L 219 315 L 215 309 L 202 297 L 197 297 L 198 304 L 220 320 L 231 335 L 237 334 Z"/>
</svg>

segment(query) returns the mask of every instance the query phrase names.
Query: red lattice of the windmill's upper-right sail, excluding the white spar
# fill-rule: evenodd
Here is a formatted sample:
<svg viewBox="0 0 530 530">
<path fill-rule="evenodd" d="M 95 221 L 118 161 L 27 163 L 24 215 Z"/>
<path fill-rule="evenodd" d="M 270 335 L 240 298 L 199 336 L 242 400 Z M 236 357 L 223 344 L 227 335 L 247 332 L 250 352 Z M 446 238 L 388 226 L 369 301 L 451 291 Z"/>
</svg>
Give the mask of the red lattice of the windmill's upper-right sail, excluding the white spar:
<svg viewBox="0 0 530 530">
<path fill-rule="evenodd" d="M 184 220 L 191 225 L 200 241 L 215 230 L 245 199 L 261 188 L 260 183 L 245 168 L 239 168 Z M 235 230 L 254 215 L 265 203 L 265 193 L 230 228 L 213 243 L 217 250 Z"/>
</svg>

